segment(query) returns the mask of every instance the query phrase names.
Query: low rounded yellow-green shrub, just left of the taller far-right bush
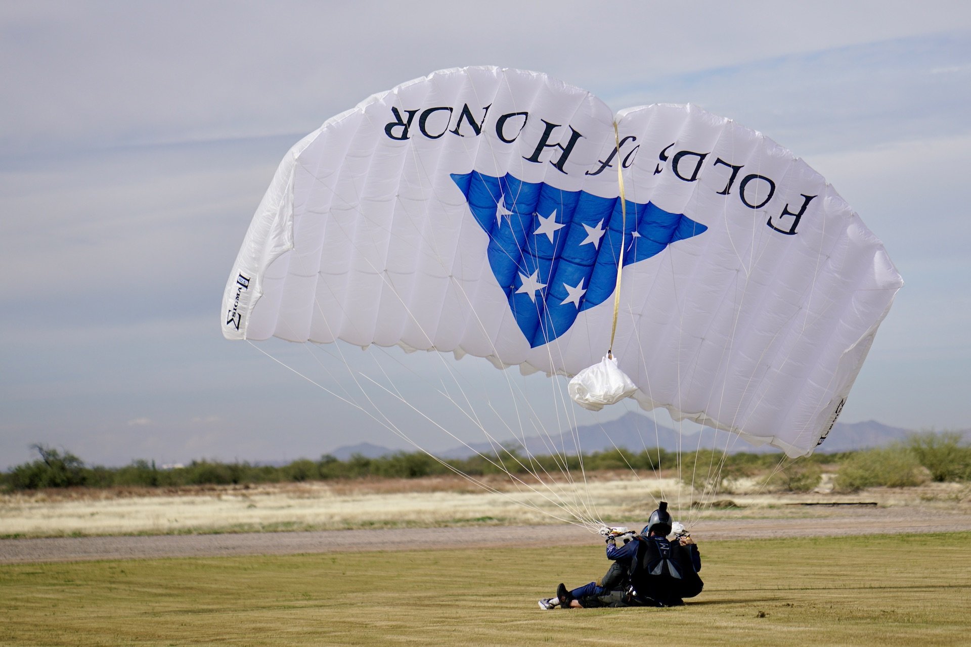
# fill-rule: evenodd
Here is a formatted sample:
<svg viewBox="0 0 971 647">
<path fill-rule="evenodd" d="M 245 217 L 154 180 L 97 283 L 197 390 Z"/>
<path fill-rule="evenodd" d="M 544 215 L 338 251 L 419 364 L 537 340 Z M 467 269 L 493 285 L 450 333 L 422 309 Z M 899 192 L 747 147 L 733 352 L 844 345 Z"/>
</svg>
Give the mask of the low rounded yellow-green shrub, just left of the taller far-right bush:
<svg viewBox="0 0 971 647">
<path fill-rule="evenodd" d="M 917 456 L 903 445 L 855 452 L 840 465 L 834 486 L 842 492 L 863 488 L 920 485 L 926 473 Z"/>
</svg>

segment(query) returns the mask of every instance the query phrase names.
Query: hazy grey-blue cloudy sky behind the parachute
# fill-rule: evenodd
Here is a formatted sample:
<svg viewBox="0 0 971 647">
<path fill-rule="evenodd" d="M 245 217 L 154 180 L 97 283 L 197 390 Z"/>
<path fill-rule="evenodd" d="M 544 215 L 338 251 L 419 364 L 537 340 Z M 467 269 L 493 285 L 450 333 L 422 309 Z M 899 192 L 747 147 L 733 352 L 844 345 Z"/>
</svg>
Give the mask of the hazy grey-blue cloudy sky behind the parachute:
<svg viewBox="0 0 971 647">
<path fill-rule="evenodd" d="M 967 2 L 7 0 L 0 469 L 35 442 L 106 465 L 404 446 L 223 340 L 222 288 L 289 146 L 372 93 L 484 64 L 547 72 L 615 110 L 698 104 L 804 157 L 906 281 L 841 421 L 971 427 Z M 260 347 L 291 366 L 307 352 Z M 508 378 L 458 364 L 475 389 Z M 605 419 L 626 410 L 613 408 Z"/>
</svg>

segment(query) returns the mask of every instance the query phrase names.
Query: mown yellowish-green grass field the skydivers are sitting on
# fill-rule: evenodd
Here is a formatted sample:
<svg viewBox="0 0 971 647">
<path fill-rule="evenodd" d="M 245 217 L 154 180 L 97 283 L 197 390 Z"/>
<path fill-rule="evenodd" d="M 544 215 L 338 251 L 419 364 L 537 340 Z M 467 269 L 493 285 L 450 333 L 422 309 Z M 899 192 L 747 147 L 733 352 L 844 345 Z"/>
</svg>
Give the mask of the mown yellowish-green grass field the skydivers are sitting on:
<svg viewBox="0 0 971 647">
<path fill-rule="evenodd" d="M 595 543 L 442 548 L 0 566 L 0 644 L 971 641 L 971 533 L 709 542 L 705 592 L 673 609 L 541 611 L 603 574 Z"/>
</svg>

